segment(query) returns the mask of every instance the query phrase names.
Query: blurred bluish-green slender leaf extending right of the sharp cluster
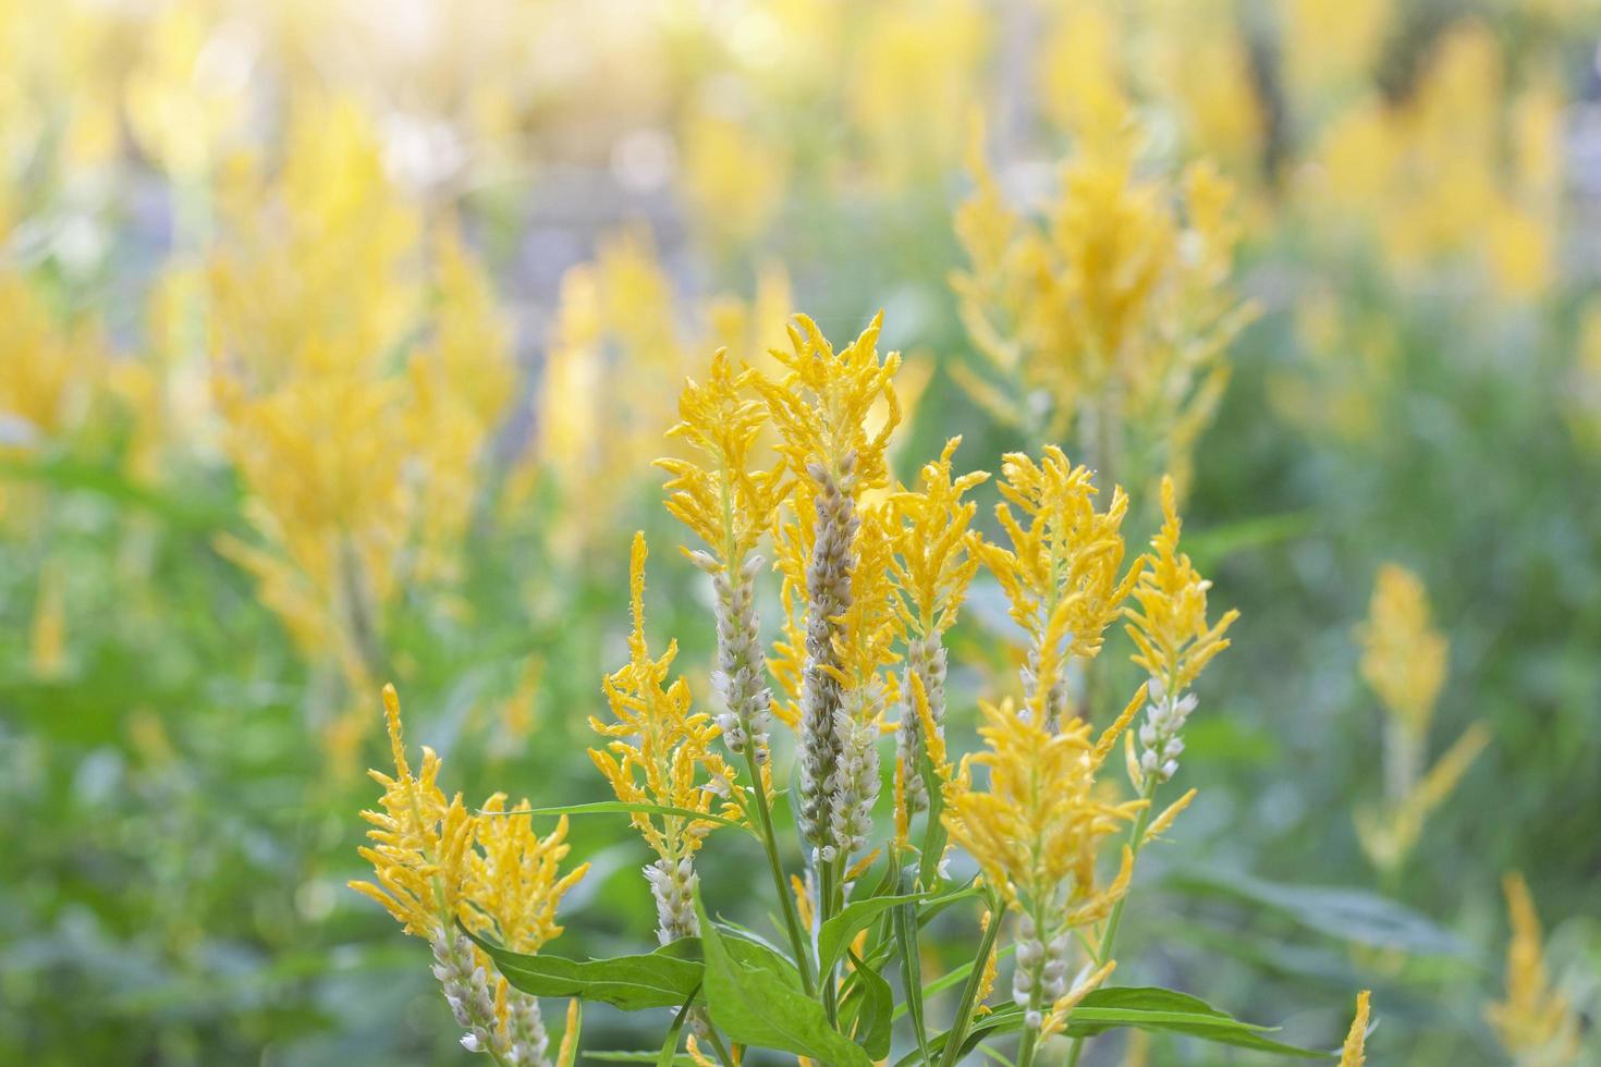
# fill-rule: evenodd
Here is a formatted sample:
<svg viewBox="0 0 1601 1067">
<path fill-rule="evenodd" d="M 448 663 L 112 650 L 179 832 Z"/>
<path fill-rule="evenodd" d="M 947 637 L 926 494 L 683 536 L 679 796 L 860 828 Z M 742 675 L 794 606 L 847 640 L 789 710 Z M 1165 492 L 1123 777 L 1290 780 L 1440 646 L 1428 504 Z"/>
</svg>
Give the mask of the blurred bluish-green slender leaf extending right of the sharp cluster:
<svg viewBox="0 0 1601 1067">
<path fill-rule="evenodd" d="M 1306 929 L 1417 955 L 1471 957 L 1471 950 L 1428 917 L 1388 897 L 1335 886 L 1278 885 L 1236 872 L 1186 869 L 1170 883 L 1190 893 L 1231 896 L 1273 909 Z"/>
</svg>

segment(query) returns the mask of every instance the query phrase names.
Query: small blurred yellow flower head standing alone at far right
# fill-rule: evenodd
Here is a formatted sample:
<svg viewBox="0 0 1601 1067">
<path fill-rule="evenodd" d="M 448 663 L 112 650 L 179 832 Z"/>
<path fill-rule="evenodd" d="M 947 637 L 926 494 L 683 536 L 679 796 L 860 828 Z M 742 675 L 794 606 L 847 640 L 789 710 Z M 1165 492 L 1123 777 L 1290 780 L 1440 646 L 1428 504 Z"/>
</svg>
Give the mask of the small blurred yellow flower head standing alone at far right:
<svg viewBox="0 0 1601 1067">
<path fill-rule="evenodd" d="M 1420 741 L 1446 683 L 1451 646 L 1430 621 L 1428 593 L 1417 574 L 1396 563 L 1378 568 L 1358 637 L 1362 678 L 1401 728 Z"/>
</svg>

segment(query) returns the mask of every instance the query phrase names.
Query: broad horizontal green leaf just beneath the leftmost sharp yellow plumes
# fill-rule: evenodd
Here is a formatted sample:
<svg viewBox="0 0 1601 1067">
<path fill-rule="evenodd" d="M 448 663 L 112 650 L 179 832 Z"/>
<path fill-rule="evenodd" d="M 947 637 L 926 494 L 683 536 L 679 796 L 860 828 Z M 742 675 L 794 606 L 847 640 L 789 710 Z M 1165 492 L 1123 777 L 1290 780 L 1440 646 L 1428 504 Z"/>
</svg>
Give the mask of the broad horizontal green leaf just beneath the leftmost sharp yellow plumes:
<svg viewBox="0 0 1601 1067">
<path fill-rule="evenodd" d="M 511 952 L 472 933 L 467 936 L 495 960 L 506 981 L 525 993 L 599 1000 L 623 1011 L 676 1008 L 695 992 L 704 973 L 695 958 L 700 952 L 695 937 L 674 941 L 645 955 L 567 960 L 544 952 Z"/>
</svg>

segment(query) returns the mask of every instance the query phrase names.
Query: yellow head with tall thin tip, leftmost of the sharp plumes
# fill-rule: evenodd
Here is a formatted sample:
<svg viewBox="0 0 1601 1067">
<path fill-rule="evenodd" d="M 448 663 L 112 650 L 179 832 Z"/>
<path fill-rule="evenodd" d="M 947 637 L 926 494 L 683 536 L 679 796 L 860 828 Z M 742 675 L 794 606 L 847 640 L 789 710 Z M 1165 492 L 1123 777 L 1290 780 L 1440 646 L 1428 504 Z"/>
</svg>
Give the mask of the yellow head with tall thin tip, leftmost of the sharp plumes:
<svg viewBox="0 0 1601 1067">
<path fill-rule="evenodd" d="M 352 881 L 351 888 L 383 904 L 413 937 L 434 937 L 456 920 L 474 918 L 467 885 L 477 822 L 461 793 L 447 800 L 439 789 L 440 761 L 432 749 L 423 747 L 421 771 L 411 773 L 394 686 L 384 686 L 384 718 L 395 773 L 368 771 L 384 789 L 383 811 L 362 813 L 373 824 L 367 837 L 375 845 L 357 849 L 373 865 L 378 883 Z"/>
</svg>

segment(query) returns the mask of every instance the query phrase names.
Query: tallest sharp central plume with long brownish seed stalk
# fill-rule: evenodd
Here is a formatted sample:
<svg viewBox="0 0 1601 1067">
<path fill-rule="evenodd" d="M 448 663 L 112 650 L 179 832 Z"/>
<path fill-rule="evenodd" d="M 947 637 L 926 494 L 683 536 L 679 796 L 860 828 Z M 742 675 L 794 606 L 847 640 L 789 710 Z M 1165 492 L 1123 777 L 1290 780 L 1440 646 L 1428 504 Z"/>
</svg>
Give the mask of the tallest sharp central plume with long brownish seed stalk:
<svg viewBox="0 0 1601 1067">
<path fill-rule="evenodd" d="M 884 450 L 900 422 L 892 384 L 900 355 L 879 358 L 882 318 L 882 314 L 874 317 L 861 336 L 836 352 L 817 323 L 797 315 L 789 328 L 792 350 L 772 352 L 786 368 L 784 378 L 754 378 L 778 429 L 780 453 L 799 480 L 794 512 L 775 531 L 789 617 L 784 640 L 775 649 L 773 675 L 789 696 L 788 705 L 776 710 L 800 733 L 800 830 L 820 854 L 837 846 L 833 793 L 841 782 L 847 741 L 853 749 L 847 777 L 863 769 L 857 757 L 868 758 L 857 731 L 849 739 L 841 736 L 841 723 L 853 720 L 841 715 L 847 705 L 845 680 L 852 677 L 841 659 L 841 641 L 860 555 L 858 502 L 865 491 L 889 482 Z M 879 402 L 887 414 L 869 430 Z M 871 699 L 861 694 L 853 699 L 858 713 L 869 705 Z M 850 822 L 850 813 L 844 819 Z"/>
</svg>

